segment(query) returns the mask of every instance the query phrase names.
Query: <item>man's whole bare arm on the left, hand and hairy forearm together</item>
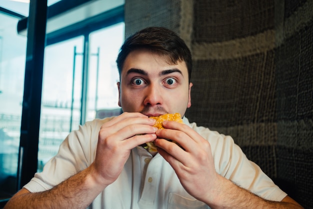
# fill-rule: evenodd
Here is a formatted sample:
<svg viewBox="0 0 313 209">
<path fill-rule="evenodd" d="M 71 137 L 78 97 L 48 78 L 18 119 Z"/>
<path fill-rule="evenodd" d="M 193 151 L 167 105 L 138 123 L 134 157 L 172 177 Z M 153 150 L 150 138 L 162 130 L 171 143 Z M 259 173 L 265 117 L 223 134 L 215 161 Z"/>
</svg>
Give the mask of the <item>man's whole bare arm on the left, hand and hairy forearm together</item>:
<svg viewBox="0 0 313 209">
<path fill-rule="evenodd" d="M 49 190 L 31 193 L 22 188 L 5 208 L 86 208 L 119 176 L 130 150 L 156 138 L 154 122 L 144 114 L 124 112 L 104 123 L 90 166 Z"/>
</svg>

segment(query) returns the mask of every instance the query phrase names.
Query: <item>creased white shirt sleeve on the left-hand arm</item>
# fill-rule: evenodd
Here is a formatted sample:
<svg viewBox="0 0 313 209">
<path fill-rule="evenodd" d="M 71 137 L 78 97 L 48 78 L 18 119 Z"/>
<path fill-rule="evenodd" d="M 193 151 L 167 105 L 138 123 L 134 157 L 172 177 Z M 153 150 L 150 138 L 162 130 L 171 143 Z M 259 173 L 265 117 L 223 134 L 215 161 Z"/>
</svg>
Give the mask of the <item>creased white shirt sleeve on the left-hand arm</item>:
<svg viewBox="0 0 313 209">
<path fill-rule="evenodd" d="M 23 187 L 30 192 L 44 191 L 88 167 L 94 160 L 98 132 L 104 120 L 93 120 L 70 132 L 57 154 Z"/>
</svg>

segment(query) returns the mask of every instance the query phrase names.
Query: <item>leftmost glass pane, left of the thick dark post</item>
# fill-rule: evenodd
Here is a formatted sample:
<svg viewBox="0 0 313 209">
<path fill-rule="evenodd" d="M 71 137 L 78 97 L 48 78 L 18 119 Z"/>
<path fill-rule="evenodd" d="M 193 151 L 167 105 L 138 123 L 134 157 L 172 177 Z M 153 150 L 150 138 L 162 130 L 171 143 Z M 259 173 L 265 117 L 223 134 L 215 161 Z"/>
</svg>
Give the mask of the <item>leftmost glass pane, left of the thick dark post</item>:
<svg viewBox="0 0 313 209">
<path fill-rule="evenodd" d="M 16 192 L 27 41 L 17 21 L 0 13 L 0 200 Z"/>
</svg>

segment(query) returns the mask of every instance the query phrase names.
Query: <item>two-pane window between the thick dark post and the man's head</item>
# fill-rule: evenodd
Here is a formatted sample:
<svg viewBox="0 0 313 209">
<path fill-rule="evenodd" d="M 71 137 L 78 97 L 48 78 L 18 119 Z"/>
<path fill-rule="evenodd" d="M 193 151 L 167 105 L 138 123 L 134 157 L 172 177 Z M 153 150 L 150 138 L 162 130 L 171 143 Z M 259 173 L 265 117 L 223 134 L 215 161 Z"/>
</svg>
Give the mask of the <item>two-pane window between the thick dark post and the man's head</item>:
<svg viewBox="0 0 313 209">
<path fill-rule="evenodd" d="M 86 121 L 94 119 L 98 109 L 118 107 L 115 60 L 123 39 L 123 22 L 88 35 Z M 83 42 L 78 36 L 45 48 L 37 171 L 80 124 Z"/>
</svg>

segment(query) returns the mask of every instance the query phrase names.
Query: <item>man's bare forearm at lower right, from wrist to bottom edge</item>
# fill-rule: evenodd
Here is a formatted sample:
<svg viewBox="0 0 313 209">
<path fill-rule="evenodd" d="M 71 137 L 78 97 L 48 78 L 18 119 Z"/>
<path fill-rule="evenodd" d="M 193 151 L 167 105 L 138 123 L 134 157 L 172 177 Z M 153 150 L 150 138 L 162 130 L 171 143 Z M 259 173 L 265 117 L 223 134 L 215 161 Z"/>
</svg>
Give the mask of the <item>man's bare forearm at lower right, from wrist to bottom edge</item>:
<svg viewBox="0 0 313 209">
<path fill-rule="evenodd" d="M 302 208 L 294 202 L 270 201 L 241 188 L 232 181 L 220 176 L 221 184 L 216 195 L 209 202 L 211 208 Z"/>
</svg>

